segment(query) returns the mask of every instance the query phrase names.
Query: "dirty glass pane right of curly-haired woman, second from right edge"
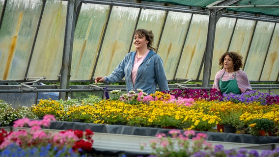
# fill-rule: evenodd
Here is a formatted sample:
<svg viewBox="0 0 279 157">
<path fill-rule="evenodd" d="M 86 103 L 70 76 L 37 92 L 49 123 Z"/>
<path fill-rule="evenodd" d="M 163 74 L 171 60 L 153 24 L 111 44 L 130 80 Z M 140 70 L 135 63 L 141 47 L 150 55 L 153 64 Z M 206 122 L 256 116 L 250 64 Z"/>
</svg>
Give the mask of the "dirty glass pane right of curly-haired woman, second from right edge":
<svg viewBox="0 0 279 157">
<path fill-rule="evenodd" d="M 274 25 L 274 23 L 260 21 L 257 23 L 244 67 L 244 71 L 250 80 L 257 81 L 260 78 L 260 72 L 264 66 L 264 59 L 268 51 Z"/>
</svg>

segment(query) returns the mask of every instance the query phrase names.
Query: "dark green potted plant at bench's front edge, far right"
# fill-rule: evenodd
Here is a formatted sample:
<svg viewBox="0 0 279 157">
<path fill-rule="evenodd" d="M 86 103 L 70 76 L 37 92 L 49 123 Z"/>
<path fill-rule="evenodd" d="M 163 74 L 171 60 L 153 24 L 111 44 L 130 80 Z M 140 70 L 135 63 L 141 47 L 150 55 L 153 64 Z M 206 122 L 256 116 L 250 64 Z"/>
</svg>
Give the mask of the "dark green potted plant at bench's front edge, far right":
<svg viewBox="0 0 279 157">
<path fill-rule="evenodd" d="M 253 119 L 251 120 L 251 124 L 248 126 L 247 130 L 248 133 L 254 136 L 272 135 L 275 131 L 275 123 L 274 121 L 266 118 Z"/>
</svg>

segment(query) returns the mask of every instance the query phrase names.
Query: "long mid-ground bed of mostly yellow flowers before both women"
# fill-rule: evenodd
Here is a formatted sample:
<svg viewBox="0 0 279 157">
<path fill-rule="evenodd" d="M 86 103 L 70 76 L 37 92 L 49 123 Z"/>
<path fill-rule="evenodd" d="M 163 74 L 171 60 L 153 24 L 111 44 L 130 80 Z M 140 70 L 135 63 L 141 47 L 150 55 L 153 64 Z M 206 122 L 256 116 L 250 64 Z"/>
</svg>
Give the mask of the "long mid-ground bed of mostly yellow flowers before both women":
<svg viewBox="0 0 279 157">
<path fill-rule="evenodd" d="M 30 110 L 37 116 L 53 114 L 57 120 L 83 119 L 86 123 L 94 124 L 198 131 L 215 131 L 213 127 L 217 124 L 230 124 L 240 133 L 251 133 L 251 127 L 257 128 L 252 119 L 264 118 L 274 122 L 272 129 L 266 129 L 271 132 L 267 135 L 278 136 L 278 95 L 258 91 L 221 95 L 216 89 L 177 89 L 150 95 L 140 90 L 139 93 L 130 91 L 123 95 L 120 92 L 112 91 L 114 97 L 104 100 L 97 96 L 83 100 L 41 100 Z"/>
</svg>

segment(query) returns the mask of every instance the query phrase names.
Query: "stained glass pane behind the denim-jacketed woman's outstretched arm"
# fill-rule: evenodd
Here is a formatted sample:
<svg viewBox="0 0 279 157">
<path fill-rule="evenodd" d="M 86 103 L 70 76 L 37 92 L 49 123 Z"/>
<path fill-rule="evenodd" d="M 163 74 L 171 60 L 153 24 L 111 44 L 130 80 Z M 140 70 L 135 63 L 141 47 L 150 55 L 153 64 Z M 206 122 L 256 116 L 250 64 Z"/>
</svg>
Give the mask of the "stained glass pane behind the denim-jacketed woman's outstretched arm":
<svg viewBox="0 0 279 157">
<path fill-rule="evenodd" d="M 129 52 L 139 10 L 139 8 L 113 6 L 95 77 L 110 75 Z"/>
</svg>

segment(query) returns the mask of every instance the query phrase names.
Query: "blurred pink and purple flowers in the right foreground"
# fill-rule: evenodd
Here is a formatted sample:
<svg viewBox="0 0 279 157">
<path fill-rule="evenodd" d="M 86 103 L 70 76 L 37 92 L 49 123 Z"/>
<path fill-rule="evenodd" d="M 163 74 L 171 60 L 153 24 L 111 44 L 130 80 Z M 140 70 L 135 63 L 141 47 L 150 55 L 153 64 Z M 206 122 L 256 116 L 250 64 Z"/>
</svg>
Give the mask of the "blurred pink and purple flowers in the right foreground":
<svg viewBox="0 0 279 157">
<path fill-rule="evenodd" d="M 212 146 L 205 141 L 206 134 L 195 131 L 170 130 L 156 135 L 158 139 L 150 141 L 152 154 L 148 157 L 277 157 L 279 148 L 274 150 L 224 149 L 223 145 Z M 141 144 L 141 149 L 146 147 Z"/>
</svg>

